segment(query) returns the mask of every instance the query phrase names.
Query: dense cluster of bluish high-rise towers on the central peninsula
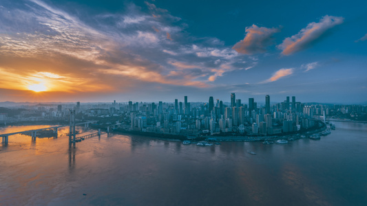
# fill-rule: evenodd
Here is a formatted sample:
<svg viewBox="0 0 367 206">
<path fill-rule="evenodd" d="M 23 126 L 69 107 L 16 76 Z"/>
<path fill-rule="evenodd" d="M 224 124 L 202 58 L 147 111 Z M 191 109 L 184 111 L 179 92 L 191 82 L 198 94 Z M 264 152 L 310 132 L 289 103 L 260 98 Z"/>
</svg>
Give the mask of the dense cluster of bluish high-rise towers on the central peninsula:
<svg viewBox="0 0 367 206">
<path fill-rule="evenodd" d="M 215 104 L 213 96 L 206 103 L 189 102 L 187 96 L 183 100 L 182 103 L 176 99 L 174 104 L 158 102 L 158 108 L 154 102 L 146 103 L 147 106 L 140 105 L 137 111 L 130 109 L 132 102 L 129 102 L 129 111 L 134 113 L 131 129 L 194 136 L 206 133 L 276 135 L 313 126 L 307 106 L 295 102 L 294 96 L 291 102 L 286 97 L 284 102 L 271 104 L 270 95 L 266 95 L 264 106 L 258 105 L 254 98 L 242 104 L 235 93 L 231 93 L 229 104 L 219 99 Z M 139 124 L 139 121 L 143 122 Z"/>
</svg>

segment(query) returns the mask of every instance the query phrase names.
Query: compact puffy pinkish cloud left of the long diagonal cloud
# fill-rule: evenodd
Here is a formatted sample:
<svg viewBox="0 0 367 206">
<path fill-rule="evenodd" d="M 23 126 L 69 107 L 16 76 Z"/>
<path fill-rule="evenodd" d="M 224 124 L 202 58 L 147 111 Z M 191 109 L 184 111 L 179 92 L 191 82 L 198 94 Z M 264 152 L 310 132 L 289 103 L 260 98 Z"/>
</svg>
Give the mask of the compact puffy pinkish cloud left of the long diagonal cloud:
<svg viewBox="0 0 367 206">
<path fill-rule="evenodd" d="M 272 44 L 272 36 L 280 32 L 278 28 L 266 28 L 252 25 L 246 27 L 246 36 L 236 43 L 232 49 L 240 54 L 256 54 L 266 52 L 266 47 Z"/>
</svg>

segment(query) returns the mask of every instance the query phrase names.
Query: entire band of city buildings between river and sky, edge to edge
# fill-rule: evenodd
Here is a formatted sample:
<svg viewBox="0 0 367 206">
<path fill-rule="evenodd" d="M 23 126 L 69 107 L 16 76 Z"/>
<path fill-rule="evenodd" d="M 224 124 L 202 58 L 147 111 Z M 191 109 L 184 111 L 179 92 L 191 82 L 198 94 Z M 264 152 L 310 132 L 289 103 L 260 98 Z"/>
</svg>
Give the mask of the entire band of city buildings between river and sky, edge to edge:
<svg viewBox="0 0 367 206">
<path fill-rule="evenodd" d="M 271 103 L 265 95 L 264 105 L 236 99 L 235 93 L 229 102 L 210 96 L 208 102 L 189 102 L 186 95 L 174 102 L 116 102 L 76 104 L 22 105 L 8 111 L 0 111 L 0 124 L 18 121 L 67 121 L 70 109 L 76 110 L 76 119 L 114 119 L 127 130 L 171 135 L 278 135 L 311 128 L 315 119 L 322 116 L 366 113 L 366 106 L 304 104 L 296 102 L 295 96 L 287 96 L 284 102 Z M 243 102 L 248 102 L 244 104 Z M 112 118 L 113 117 L 113 118 Z"/>
</svg>

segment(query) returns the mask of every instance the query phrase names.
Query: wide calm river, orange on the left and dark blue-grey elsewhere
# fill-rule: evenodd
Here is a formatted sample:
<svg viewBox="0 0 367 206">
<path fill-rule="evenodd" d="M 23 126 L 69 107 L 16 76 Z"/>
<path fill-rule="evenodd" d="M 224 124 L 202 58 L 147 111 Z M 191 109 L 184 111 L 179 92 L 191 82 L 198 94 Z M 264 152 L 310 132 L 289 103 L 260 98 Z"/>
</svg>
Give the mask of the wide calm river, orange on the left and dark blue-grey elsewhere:
<svg viewBox="0 0 367 206">
<path fill-rule="evenodd" d="M 0 146 L 0 205 L 367 205 L 367 124 L 335 125 L 316 141 L 207 147 L 105 134 L 69 149 L 67 128 L 14 135 Z"/>
</svg>

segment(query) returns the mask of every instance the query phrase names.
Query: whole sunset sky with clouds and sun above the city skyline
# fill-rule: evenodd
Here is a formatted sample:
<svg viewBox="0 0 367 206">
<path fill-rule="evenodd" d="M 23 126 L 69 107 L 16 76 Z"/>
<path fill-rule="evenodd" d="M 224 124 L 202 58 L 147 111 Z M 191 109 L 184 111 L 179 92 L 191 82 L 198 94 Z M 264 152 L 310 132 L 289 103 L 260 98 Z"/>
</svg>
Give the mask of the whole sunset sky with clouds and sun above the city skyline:
<svg viewBox="0 0 367 206">
<path fill-rule="evenodd" d="M 367 102 L 367 1 L 0 0 L 0 102 Z"/>
</svg>

